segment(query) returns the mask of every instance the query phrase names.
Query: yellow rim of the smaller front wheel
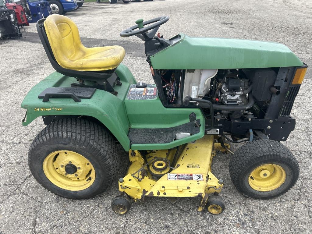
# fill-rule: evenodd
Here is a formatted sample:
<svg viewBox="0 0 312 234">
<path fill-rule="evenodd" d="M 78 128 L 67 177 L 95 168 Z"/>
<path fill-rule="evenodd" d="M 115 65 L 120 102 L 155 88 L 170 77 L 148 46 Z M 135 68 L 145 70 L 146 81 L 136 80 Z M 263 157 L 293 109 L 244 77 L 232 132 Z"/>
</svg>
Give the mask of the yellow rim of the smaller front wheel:
<svg viewBox="0 0 312 234">
<path fill-rule="evenodd" d="M 286 179 L 284 168 L 277 164 L 264 164 L 254 169 L 248 178 L 251 188 L 267 192 L 279 188 Z"/>
</svg>

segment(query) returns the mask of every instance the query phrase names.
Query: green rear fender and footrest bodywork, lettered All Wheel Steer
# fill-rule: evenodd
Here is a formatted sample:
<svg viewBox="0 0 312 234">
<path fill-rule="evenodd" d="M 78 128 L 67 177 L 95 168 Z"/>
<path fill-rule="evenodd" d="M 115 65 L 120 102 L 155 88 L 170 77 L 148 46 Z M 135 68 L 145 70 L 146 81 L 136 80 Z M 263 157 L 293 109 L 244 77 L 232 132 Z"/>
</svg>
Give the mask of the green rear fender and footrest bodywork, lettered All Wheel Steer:
<svg viewBox="0 0 312 234">
<path fill-rule="evenodd" d="M 130 84 L 135 84 L 136 80 L 123 64 L 118 66 L 116 73 L 122 82 L 121 86 L 115 87 L 118 95 L 96 90 L 91 99 L 81 99 L 81 102 L 75 102 L 71 98 L 50 98 L 49 101 L 42 102 L 42 99 L 38 99 L 38 95 L 46 88 L 70 87 L 71 83 L 76 82 L 73 77 L 58 72 L 52 73 L 35 85 L 23 100 L 22 108 L 27 109 L 27 116 L 22 124 L 26 126 L 42 115 L 92 116 L 110 130 L 124 150 L 129 151 L 129 128 L 174 127 L 189 122 L 189 114 L 195 112 L 202 123 L 200 133 L 167 144 L 131 145 L 131 149 L 170 149 L 203 137 L 205 120 L 199 109 L 165 108 L 159 98 L 127 100 Z"/>
</svg>

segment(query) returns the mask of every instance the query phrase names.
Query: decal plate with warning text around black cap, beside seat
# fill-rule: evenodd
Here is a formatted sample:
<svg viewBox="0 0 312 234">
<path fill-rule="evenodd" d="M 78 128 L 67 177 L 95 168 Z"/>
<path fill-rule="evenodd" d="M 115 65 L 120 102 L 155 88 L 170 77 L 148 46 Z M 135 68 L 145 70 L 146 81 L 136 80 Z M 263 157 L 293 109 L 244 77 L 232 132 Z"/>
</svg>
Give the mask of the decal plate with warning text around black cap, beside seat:
<svg viewBox="0 0 312 234">
<path fill-rule="evenodd" d="M 157 88 L 155 85 L 147 85 L 146 88 L 137 88 L 131 85 L 127 99 L 128 100 L 147 100 L 157 98 Z"/>
</svg>

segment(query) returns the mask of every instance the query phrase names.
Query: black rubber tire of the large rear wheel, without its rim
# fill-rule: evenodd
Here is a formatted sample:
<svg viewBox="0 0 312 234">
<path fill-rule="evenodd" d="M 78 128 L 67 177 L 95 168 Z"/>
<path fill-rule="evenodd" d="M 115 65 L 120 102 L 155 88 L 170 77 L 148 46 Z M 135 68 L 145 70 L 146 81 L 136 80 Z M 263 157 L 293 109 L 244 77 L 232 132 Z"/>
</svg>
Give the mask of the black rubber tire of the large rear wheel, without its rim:
<svg viewBox="0 0 312 234">
<path fill-rule="evenodd" d="M 43 162 L 44 158 L 47 156 L 47 154 L 42 156 L 38 152 L 40 152 L 41 149 L 49 149 L 51 145 L 55 147 L 59 146 L 59 150 L 64 146 L 68 146 L 92 152 L 94 160 L 98 164 L 93 166 L 105 171 L 105 178 L 101 178 L 100 180 L 101 184 L 97 186 L 95 190 L 91 189 L 89 193 L 80 193 L 81 191 L 74 191 L 74 193 L 71 193 L 72 191 L 68 192 L 61 188 L 56 189 L 58 187 L 46 178 L 43 173 L 42 164 L 40 165 L 40 163 L 38 163 L 38 161 Z M 50 153 L 52 152 L 53 150 Z M 42 157 L 44 158 L 42 159 Z M 90 161 L 89 158 L 88 160 Z M 102 126 L 86 119 L 60 119 L 49 124 L 45 129 L 42 129 L 33 140 L 28 152 L 28 166 L 37 181 L 50 192 L 71 199 L 90 198 L 104 192 L 105 189 L 112 184 L 118 171 L 118 165 L 119 153 L 115 139 Z M 40 166 L 42 170 L 38 170 Z M 97 176 L 96 169 L 95 173 L 95 176 Z M 90 187 L 92 186 L 93 184 Z"/>
</svg>

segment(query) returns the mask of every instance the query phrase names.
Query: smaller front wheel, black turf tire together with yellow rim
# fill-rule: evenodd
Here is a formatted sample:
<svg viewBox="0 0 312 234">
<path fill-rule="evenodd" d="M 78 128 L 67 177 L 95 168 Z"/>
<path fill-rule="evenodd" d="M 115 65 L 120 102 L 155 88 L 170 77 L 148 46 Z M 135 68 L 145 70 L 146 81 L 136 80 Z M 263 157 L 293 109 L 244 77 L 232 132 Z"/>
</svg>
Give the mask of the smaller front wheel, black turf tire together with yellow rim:
<svg viewBox="0 0 312 234">
<path fill-rule="evenodd" d="M 241 146 L 229 165 L 236 189 L 246 197 L 269 199 L 292 188 L 299 177 L 299 164 L 283 144 L 256 140 Z"/>
</svg>

